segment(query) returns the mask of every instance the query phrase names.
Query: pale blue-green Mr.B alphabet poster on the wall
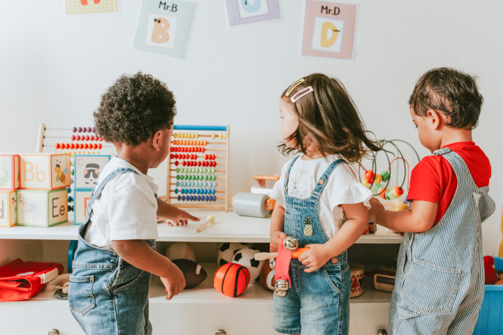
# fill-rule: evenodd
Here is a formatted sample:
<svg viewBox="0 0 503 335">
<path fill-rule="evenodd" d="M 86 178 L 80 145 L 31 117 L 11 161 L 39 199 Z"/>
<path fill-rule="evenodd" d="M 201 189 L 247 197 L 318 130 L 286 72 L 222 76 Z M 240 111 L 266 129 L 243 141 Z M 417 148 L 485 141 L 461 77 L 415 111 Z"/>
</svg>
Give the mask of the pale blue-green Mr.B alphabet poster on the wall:
<svg viewBox="0 0 503 335">
<path fill-rule="evenodd" d="M 196 3 L 143 0 L 135 49 L 185 59 Z"/>
</svg>

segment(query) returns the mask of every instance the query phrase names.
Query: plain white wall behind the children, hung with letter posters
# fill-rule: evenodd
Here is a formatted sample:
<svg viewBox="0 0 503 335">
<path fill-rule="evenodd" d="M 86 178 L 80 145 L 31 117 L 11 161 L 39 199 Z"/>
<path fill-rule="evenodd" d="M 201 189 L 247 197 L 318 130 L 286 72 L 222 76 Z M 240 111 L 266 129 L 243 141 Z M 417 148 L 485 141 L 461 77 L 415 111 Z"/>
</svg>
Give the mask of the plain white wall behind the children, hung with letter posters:
<svg viewBox="0 0 503 335">
<path fill-rule="evenodd" d="M 199 3 L 187 60 L 133 50 L 140 1 L 120 14 L 66 17 L 64 1 L 0 1 L 0 152 L 34 151 L 38 123 L 89 126 L 100 95 L 122 73 L 143 70 L 175 92 L 177 124 L 231 124 L 231 193 L 257 172 L 279 172 L 278 97 L 299 77 L 323 72 L 347 84 L 368 128 L 421 147 L 407 98 L 433 67 L 480 77 L 486 103 L 474 140 L 493 165 L 499 202 L 503 158 L 501 1 L 360 1 L 352 63 L 298 57 L 302 2 L 280 1 L 284 20 L 227 29 L 223 0 Z M 152 172 L 161 190 L 166 165 Z M 499 218 L 484 224 L 493 253 Z"/>
</svg>

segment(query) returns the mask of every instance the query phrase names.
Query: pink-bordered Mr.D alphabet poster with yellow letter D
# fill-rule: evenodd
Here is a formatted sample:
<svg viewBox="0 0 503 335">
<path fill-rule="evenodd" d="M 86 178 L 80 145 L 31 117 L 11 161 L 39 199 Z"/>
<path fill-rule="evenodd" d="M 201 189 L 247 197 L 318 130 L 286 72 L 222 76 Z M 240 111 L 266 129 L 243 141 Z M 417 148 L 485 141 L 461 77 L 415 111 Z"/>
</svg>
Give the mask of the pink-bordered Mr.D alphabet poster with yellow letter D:
<svg viewBox="0 0 503 335">
<path fill-rule="evenodd" d="M 358 3 L 305 0 L 302 57 L 353 61 Z"/>
</svg>

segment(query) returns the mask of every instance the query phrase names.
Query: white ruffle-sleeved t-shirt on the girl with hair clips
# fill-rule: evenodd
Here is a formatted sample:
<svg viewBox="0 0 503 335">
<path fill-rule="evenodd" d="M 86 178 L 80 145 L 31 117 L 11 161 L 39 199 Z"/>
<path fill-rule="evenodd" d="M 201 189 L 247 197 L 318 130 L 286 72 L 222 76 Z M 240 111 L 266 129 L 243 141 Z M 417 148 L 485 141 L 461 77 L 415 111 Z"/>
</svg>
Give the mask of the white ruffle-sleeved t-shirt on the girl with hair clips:
<svg viewBox="0 0 503 335">
<path fill-rule="evenodd" d="M 328 166 L 334 161 L 337 161 L 340 156 L 333 155 L 323 158 L 303 161 L 302 156 L 297 158 L 290 170 L 288 192 L 289 196 L 298 199 L 307 199 L 311 197 L 312 191 L 318 184 L 323 173 L 328 169 Z M 270 198 L 285 207 L 284 181 L 285 174 L 291 162 L 286 162 L 283 165 L 281 177 L 272 192 Z M 370 198 L 372 191 L 363 186 L 356 180 L 356 173 L 351 166 L 346 163 L 337 165 L 333 170 L 325 188 L 321 192 L 319 198 L 319 216 L 323 230 L 325 230 L 329 239 L 335 236 L 340 230 L 342 224 L 347 220 L 344 210 L 340 204 L 357 204 L 363 202 L 367 209 L 370 209 Z"/>
</svg>

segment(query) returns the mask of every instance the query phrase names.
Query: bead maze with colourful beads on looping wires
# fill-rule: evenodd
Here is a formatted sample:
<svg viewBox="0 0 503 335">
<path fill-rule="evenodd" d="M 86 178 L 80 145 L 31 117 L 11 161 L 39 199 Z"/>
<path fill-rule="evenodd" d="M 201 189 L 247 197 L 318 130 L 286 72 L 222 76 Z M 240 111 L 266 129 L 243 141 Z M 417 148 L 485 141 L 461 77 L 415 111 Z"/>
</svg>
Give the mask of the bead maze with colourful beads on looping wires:
<svg viewBox="0 0 503 335">
<path fill-rule="evenodd" d="M 370 161 L 372 163 L 371 170 L 367 170 L 362 163 L 358 162 L 358 178 L 360 180 L 360 183 L 367 186 L 367 188 L 370 188 L 371 190 L 373 190 L 374 196 L 380 196 L 384 200 L 393 200 L 395 198 L 400 198 L 400 196 L 404 193 L 403 186 L 404 186 L 406 180 L 407 180 L 407 191 L 409 190 L 410 173 L 411 173 L 409 162 L 404 158 L 402 150 L 400 150 L 400 148 L 398 147 L 398 145 L 395 142 L 401 142 L 401 143 L 407 144 L 407 146 L 410 147 L 414 151 L 414 153 L 416 154 L 416 158 L 417 158 L 418 162 L 421 161 L 416 149 L 414 149 L 414 147 L 412 147 L 412 145 L 409 144 L 409 142 L 406 142 L 404 140 L 384 140 L 383 147 L 385 147 L 386 144 L 392 145 L 394 147 L 394 149 L 396 149 L 396 151 L 397 151 L 396 156 L 393 154 L 393 156 L 395 156 L 395 158 L 393 158 L 393 160 L 390 161 L 390 158 L 388 156 L 389 151 L 383 150 L 384 154 L 386 155 L 386 159 L 388 161 L 388 168 L 386 170 L 384 170 L 381 174 L 377 174 L 377 155 L 379 154 L 380 151 L 377 151 L 376 153 L 374 153 L 374 152 L 371 153 L 372 154 L 372 158 L 370 159 Z M 391 152 L 390 152 L 390 154 L 391 154 Z M 397 178 L 396 184 L 397 184 L 397 187 L 395 187 L 395 189 L 393 191 L 390 191 L 390 190 L 388 190 L 388 186 L 391 181 L 392 166 L 395 161 L 397 161 L 397 163 L 396 163 L 396 178 Z M 399 179 L 399 176 L 400 176 L 399 166 L 400 165 L 398 165 L 399 164 L 398 161 L 402 161 L 403 170 L 404 170 L 403 179 L 402 179 L 401 183 L 399 182 L 399 180 L 400 180 Z M 361 174 L 360 174 L 361 168 L 363 168 L 363 170 L 365 170 L 365 180 L 362 180 L 362 178 L 361 178 Z M 381 181 L 386 182 L 386 185 L 382 186 Z M 374 186 L 374 187 L 372 188 L 372 186 Z"/>
</svg>

